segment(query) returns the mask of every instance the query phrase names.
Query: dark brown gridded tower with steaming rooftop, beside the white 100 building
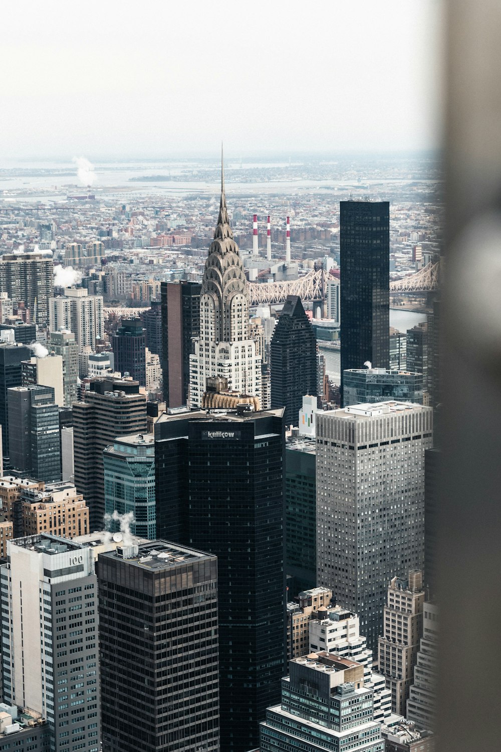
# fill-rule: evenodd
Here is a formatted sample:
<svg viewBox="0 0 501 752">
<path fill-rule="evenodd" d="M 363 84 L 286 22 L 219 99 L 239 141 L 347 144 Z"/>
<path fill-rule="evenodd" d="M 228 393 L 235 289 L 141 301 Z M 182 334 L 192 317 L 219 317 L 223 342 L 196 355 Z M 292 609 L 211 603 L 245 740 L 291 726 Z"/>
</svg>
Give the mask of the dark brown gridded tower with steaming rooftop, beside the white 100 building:
<svg viewBox="0 0 501 752">
<path fill-rule="evenodd" d="M 104 749 L 219 752 L 216 556 L 117 548 L 98 581 Z"/>
</svg>

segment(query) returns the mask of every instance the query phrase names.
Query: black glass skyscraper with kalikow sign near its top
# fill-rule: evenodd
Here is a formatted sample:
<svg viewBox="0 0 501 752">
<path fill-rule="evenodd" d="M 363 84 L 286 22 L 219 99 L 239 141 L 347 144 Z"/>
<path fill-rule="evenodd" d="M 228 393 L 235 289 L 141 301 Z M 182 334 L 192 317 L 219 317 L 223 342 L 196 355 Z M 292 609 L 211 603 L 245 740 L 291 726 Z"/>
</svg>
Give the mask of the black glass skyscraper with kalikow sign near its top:
<svg viewBox="0 0 501 752">
<path fill-rule="evenodd" d="M 283 408 L 164 415 L 155 437 L 158 529 L 187 518 L 218 556 L 221 750 L 247 752 L 284 670 Z"/>
</svg>

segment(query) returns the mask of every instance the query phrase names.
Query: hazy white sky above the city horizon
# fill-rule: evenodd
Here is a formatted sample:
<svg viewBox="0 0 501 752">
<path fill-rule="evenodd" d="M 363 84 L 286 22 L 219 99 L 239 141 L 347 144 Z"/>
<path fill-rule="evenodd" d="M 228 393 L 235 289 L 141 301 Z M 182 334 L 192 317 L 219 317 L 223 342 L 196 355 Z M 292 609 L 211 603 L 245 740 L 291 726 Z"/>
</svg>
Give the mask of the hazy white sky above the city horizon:
<svg viewBox="0 0 501 752">
<path fill-rule="evenodd" d="M 9 157 L 436 147 L 439 0 L 5 0 Z"/>
</svg>

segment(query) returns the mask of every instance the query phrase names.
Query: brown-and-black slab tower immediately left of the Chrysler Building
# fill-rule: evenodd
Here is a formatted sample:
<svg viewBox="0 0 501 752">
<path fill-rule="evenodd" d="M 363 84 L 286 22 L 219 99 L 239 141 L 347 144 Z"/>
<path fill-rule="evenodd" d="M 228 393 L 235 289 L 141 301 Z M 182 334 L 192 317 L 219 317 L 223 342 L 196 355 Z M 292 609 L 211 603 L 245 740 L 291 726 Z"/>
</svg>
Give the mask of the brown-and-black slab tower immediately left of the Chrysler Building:
<svg viewBox="0 0 501 752">
<path fill-rule="evenodd" d="M 189 358 L 200 336 L 198 282 L 161 283 L 161 369 L 168 408 L 188 404 Z"/>
</svg>

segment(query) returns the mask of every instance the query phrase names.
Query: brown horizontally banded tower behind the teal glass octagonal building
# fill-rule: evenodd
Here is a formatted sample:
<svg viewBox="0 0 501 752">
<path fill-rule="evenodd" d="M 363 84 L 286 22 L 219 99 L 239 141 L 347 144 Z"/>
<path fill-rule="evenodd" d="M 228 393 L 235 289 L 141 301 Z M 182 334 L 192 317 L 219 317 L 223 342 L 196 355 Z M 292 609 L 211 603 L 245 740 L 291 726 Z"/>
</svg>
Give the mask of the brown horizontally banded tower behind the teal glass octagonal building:
<svg viewBox="0 0 501 752">
<path fill-rule="evenodd" d="M 95 379 L 73 404 L 75 486 L 90 509 L 90 529 L 103 529 L 104 447 L 116 436 L 146 433 L 146 396 L 137 381 Z"/>
</svg>

